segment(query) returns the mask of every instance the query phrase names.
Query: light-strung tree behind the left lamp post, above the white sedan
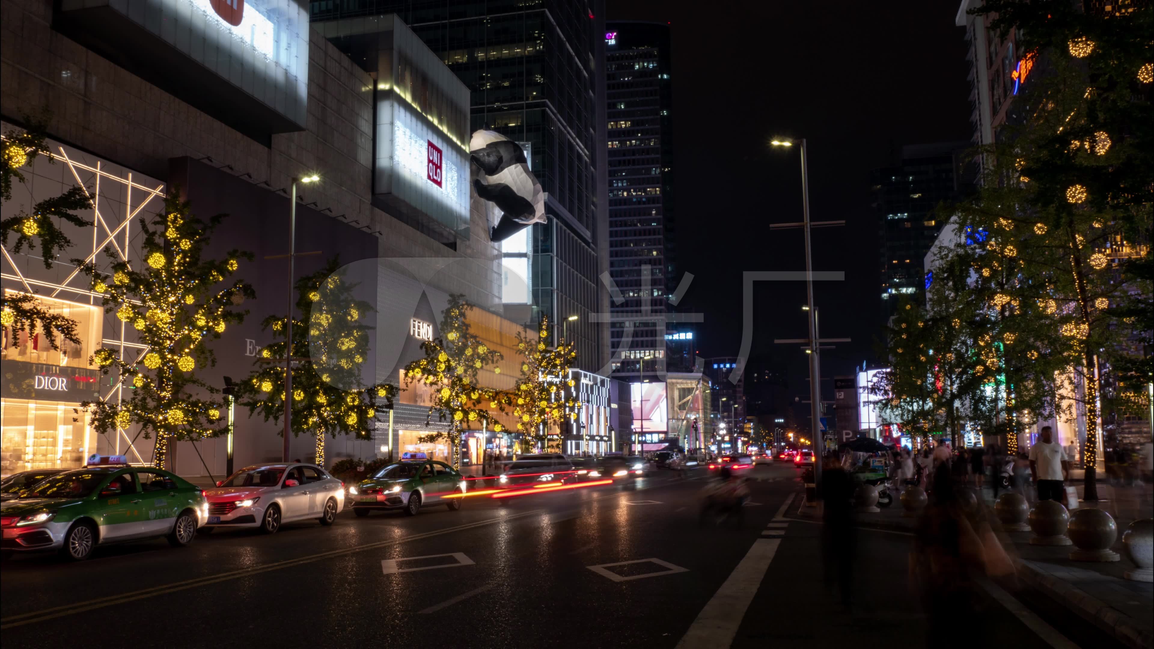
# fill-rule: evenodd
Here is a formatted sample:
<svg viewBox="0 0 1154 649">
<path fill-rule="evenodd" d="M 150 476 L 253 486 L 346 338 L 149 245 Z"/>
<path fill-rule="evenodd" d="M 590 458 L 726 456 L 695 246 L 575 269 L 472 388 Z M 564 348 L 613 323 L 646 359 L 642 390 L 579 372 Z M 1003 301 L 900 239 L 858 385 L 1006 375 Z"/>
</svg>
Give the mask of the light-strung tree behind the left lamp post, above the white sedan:
<svg viewBox="0 0 1154 649">
<path fill-rule="evenodd" d="M 364 382 L 373 328 L 361 320 L 374 309 L 355 298 L 355 288 L 336 259 L 297 281 L 300 318 L 293 318 L 292 358 L 299 360 L 292 371 L 292 432 L 316 437 L 320 465 L 324 465 L 327 435 L 367 439 L 376 400 L 385 400 L 391 408 L 397 391 L 389 383 Z M 270 315 L 261 323 L 275 342 L 261 350 L 258 370 L 238 387 L 240 404 L 248 406 L 249 416 L 260 412 L 265 422 L 279 422 L 285 411 L 285 316 Z"/>
</svg>

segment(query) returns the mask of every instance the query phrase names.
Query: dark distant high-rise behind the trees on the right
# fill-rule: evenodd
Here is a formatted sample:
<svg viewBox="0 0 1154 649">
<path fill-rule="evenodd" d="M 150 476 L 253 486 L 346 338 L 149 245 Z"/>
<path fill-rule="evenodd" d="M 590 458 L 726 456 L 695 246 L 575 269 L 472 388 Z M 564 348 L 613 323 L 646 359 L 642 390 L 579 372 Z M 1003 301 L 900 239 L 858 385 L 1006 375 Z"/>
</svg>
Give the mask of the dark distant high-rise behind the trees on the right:
<svg viewBox="0 0 1154 649">
<path fill-rule="evenodd" d="M 967 142 L 904 147 L 901 162 L 872 173 L 874 209 L 881 239 L 882 316 L 889 319 L 902 296 L 921 300 L 927 286 L 924 258 L 945 219 L 934 208 L 956 200 L 972 179 Z"/>
</svg>

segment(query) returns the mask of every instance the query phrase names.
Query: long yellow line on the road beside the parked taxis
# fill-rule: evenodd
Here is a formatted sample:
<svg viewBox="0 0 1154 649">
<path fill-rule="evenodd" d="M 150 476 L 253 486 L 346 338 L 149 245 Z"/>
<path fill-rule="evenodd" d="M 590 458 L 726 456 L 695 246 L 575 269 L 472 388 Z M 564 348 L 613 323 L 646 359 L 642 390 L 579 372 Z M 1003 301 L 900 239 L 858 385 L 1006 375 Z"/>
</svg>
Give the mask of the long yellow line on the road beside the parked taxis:
<svg viewBox="0 0 1154 649">
<path fill-rule="evenodd" d="M 285 559 L 283 561 L 273 561 L 272 564 L 267 564 L 263 566 L 256 566 L 253 568 L 241 568 L 239 570 L 230 570 L 227 573 L 218 573 L 215 575 L 207 575 L 203 577 L 196 577 L 185 581 L 178 581 L 173 583 L 166 583 L 162 585 L 153 585 L 137 590 L 135 592 L 125 592 L 119 595 L 111 595 L 106 597 L 99 597 L 96 599 L 89 599 L 87 602 L 77 602 L 75 604 L 62 604 L 60 606 L 53 606 L 51 609 L 42 609 L 39 611 L 29 611 L 28 613 L 17 613 L 15 616 L 8 616 L 7 618 L 0 618 L 0 631 L 29 625 L 32 622 L 42 622 L 44 620 L 51 620 L 53 618 L 60 618 L 63 616 L 72 616 L 75 613 L 83 613 L 85 611 L 92 611 L 96 609 L 103 609 L 105 606 L 111 606 L 113 604 L 123 604 L 127 602 L 135 602 L 137 599 L 145 599 L 155 595 L 168 595 L 178 590 L 187 590 L 189 588 L 196 588 L 200 585 L 208 585 L 210 583 L 217 583 L 222 581 L 228 581 L 240 577 L 247 577 L 252 575 L 257 575 L 261 573 L 267 573 L 270 570 L 279 570 L 280 568 L 287 568 L 291 566 L 299 566 L 301 564 L 312 564 L 314 561 L 322 561 L 324 559 L 331 559 L 334 557 L 344 557 L 346 554 L 355 554 L 359 552 L 365 552 L 366 550 L 376 550 L 379 547 L 391 547 L 394 545 L 400 545 L 402 543 L 409 543 L 411 540 L 419 540 L 422 538 L 430 538 L 434 536 L 441 536 L 445 534 L 451 534 L 462 530 L 469 530 L 473 528 L 480 528 L 484 525 L 490 525 L 493 523 L 503 523 L 507 521 L 512 521 L 516 519 L 524 519 L 526 516 L 534 516 L 540 514 L 542 509 L 532 509 L 530 512 L 522 512 L 519 514 L 505 514 L 501 516 L 494 516 L 492 519 L 485 519 L 482 521 L 477 521 L 473 523 L 465 523 L 462 525 L 454 525 L 451 528 L 443 528 L 440 530 L 414 534 L 410 536 L 403 536 L 399 538 L 392 538 L 389 540 L 377 540 L 373 543 L 366 543 L 362 545 L 354 545 L 352 547 L 345 547 L 343 550 L 329 550 L 325 552 L 317 552 L 316 554 L 308 554 L 306 557 L 300 557 L 297 559 Z"/>
</svg>

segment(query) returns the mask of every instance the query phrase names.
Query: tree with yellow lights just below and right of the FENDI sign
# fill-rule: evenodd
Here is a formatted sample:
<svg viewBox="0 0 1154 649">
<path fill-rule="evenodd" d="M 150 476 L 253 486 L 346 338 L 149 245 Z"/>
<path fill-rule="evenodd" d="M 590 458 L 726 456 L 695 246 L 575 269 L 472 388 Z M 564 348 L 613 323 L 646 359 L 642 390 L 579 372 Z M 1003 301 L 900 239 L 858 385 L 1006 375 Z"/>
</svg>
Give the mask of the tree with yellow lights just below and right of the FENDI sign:
<svg viewBox="0 0 1154 649">
<path fill-rule="evenodd" d="M 421 441 L 448 439 L 454 469 L 460 468 L 462 432 L 482 423 L 501 432 L 502 426 L 493 419 L 489 409 L 503 410 L 507 401 L 496 390 L 478 385 L 480 370 L 501 360 L 502 355 L 482 344 L 470 330 L 466 315 L 471 308 L 473 306 L 464 296 L 449 296 L 449 306 L 441 316 L 441 337 L 421 343 L 425 358 L 405 366 L 406 386 L 419 382 L 432 388 L 428 420 L 432 422 L 436 413 L 441 422 L 450 422 L 448 433 L 430 433 Z M 501 368 L 493 371 L 500 373 Z"/>
</svg>

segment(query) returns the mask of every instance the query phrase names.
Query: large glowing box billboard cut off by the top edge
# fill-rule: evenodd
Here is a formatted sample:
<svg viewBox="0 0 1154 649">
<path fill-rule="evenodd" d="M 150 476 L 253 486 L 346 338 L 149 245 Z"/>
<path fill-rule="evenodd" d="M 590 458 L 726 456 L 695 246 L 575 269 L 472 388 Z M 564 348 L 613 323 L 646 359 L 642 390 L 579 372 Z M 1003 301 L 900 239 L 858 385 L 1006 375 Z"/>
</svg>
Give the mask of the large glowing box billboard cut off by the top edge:
<svg viewBox="0 0 1154 649">
<path fill-rule="evenodd" d="M 53 27 L 267 142 L 305 129 L 304 0 L 60 0 Z"/>
</svg>

